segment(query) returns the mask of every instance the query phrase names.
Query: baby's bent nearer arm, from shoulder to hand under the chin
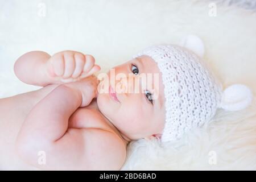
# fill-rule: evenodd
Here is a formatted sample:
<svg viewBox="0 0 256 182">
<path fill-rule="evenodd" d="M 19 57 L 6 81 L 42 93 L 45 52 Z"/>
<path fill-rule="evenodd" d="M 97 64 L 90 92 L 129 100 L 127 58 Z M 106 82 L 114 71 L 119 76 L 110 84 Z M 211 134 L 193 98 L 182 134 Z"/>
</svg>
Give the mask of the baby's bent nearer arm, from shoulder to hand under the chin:
<svg viewBox="0 0 256 182">
<path fill-rule="evenodd" d="M 93 128 L 68 129 L 69 117 L 77 107 L 88 105 L 96 96 L 94 84 L 95 80 L 59 85 L 31 110 L 16 141 L 24 161 L 42 169 L 121 167 L 123 153 L 117 154 L 121 142 L 115 134 Z M 46 164 L 38 162 L 40 151 L 46 154 Z"/>
</svg>

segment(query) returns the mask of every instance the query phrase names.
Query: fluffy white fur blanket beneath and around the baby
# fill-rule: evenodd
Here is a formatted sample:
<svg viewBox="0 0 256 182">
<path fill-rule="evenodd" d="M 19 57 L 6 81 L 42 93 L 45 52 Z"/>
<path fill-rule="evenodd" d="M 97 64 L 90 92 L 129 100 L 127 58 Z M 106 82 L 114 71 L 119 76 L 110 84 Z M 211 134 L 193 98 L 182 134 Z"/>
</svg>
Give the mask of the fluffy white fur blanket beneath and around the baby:
<svg viewBox="0 0 256 182">
<path fill-rule="evenodd" d="M 0 0 L 0 98 L 38 89 L 14 75 L 24 52 L 73 49 L 94 55 L 106 72 L 146 46 L 176 44 L 187 34 L 203 39 L 205 61 L 224 87 L 241 83 L 256 95 L 255 3 L 233 2 Z M 255 101 L 240 112 L 218 110 L 179 142 L 131 142 L 122 169 L 256 169 Z"/>
</svg>

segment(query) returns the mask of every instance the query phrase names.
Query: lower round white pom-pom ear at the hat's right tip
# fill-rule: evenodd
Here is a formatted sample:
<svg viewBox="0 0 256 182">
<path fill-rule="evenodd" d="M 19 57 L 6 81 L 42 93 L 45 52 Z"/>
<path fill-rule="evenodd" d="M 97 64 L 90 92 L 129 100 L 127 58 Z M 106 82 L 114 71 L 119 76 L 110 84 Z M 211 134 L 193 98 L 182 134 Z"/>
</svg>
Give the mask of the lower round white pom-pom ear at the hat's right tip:
<svg viewBox="0 0 256 182">
<path fill-rule="evenodd" d="M 220 107 L 229 111 L 245 109 L 253 98 L 251 90 L 241 84 L 234 84 L 226 88 L 222 94 Z"/>
</svg>

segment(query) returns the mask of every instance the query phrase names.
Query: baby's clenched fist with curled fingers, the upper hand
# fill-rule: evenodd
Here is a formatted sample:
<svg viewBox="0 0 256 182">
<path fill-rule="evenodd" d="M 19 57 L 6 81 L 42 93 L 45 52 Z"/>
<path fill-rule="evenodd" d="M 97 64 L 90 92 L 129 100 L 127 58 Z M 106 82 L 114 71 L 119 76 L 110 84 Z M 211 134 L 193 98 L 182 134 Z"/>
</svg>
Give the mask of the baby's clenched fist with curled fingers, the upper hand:
<svg viewBox="0 0 256 182">
<path fill-rule="evenodd" d="M 56 53 L 48 60 L 46 67 L 50 77 L 64 83 L 81 80 L 101 69 L 95 64 L 93 56 L 76 51 Z"/>
</svg>

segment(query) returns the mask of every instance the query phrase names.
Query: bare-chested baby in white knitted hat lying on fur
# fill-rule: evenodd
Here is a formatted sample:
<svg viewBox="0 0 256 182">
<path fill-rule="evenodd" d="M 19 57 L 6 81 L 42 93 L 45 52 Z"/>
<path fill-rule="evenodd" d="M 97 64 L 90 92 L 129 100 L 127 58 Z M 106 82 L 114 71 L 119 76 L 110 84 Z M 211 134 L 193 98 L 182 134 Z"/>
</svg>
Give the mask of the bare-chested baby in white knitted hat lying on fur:
<svg viewBox="0 0 256 182">
<path fill-rule="evenodd" d="M 43 88 L 0 100 L 1 169 L 118 170 L 131 140 L 177 140 L 217 107 L 251 101 L 244 85 L 222 92 L 196 53 L 171 44 L 148 47 L 98 78 L 93 56 L 76 51 L 28 52 L 14 71 Z"/>
</svg>

